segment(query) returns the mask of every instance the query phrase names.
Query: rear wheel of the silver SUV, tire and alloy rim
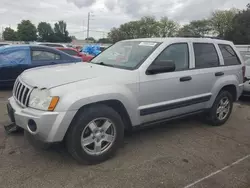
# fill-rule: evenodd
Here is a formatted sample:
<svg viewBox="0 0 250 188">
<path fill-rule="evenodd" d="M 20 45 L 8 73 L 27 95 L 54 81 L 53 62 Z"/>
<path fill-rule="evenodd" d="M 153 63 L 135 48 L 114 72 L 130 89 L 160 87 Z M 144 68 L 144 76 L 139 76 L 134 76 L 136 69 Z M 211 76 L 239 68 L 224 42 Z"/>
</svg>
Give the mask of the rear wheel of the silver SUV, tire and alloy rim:
<svg viewBox="0 0 250 188">
<path fill-rule="evenodd" d="M 223 125 L 232 112 L 233 97 L 228 91 L 221 91 L 208 113 L 209 123 L 213 126 Z"/>
</svg>

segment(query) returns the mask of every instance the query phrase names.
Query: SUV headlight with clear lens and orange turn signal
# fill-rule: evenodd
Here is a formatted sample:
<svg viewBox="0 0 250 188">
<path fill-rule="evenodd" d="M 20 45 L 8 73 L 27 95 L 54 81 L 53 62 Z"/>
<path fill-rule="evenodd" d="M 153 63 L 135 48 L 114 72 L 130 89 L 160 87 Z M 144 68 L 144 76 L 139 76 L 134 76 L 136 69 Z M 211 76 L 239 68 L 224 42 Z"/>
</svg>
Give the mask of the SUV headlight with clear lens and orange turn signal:
<svg viewBox="0 0 250 188">
<path fill-rule="evenodd" d="M 29 107 L 44 111 L 53 111 L 59 97 L 52 97 L 46 89 L 33 89 L 30 94 Z"/>
</svg>

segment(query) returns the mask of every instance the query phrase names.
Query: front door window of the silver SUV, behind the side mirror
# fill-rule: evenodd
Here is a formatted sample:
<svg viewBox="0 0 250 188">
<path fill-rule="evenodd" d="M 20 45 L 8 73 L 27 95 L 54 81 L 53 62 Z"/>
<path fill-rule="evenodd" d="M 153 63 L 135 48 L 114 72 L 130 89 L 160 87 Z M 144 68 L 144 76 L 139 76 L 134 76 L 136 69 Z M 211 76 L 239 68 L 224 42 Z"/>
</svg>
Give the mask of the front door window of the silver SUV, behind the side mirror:
<svg viewBox="0 0 250 188">
<path fill-rule="evenodd" d="M 189 66 L 188 44 L 172 44 L 155 61 L 174 61 L 175 71 L 186 70 Z"/>
</svg>

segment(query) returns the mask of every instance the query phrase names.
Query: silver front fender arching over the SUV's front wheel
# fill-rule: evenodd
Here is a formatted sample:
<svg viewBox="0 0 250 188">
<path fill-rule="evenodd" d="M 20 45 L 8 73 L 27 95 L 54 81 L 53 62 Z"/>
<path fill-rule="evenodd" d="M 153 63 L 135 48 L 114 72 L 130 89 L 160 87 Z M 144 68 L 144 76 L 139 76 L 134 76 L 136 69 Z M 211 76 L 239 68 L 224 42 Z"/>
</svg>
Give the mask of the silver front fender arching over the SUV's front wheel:
<svg viewBox="0 0 250 188">
<path fill-rule="evenodd" d="M 132 92 L 133 90 L 134 92 Z M 63 96 L 56 107 L 57 111 L 77 111 L 81 107 L 107 100 L 118 100 L 126 108 L 132 125 L 140 123 L 136 88 L 127 88 L 120 85 L 98 86 L 89 89 L 76 90 Z"/>
</svg>

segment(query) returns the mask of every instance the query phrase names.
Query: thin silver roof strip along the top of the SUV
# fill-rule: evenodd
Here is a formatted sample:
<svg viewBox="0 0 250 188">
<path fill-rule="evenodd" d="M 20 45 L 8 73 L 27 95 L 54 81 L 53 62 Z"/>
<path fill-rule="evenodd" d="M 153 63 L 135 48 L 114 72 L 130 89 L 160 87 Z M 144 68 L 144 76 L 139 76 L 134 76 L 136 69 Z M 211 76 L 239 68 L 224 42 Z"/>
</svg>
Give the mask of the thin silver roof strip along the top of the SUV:
<svg viewBox="0 0 250 188">
<path fill-rule="evenodd" d="M 220 40 L 220 39 L 212 39 L 212 38 L 191 38 L 191 37 L 168 37 L 168 38 L 139 38 L 139 39 L 129 39 L 125 41 L 145 41 L 145 42 L 180 42 L 180 41 L 187 41 L 187 42 L 216 42 L 216 43 L 223 43 L 223 44 L 232 44 L 231 41 Z"/>
</svg>

